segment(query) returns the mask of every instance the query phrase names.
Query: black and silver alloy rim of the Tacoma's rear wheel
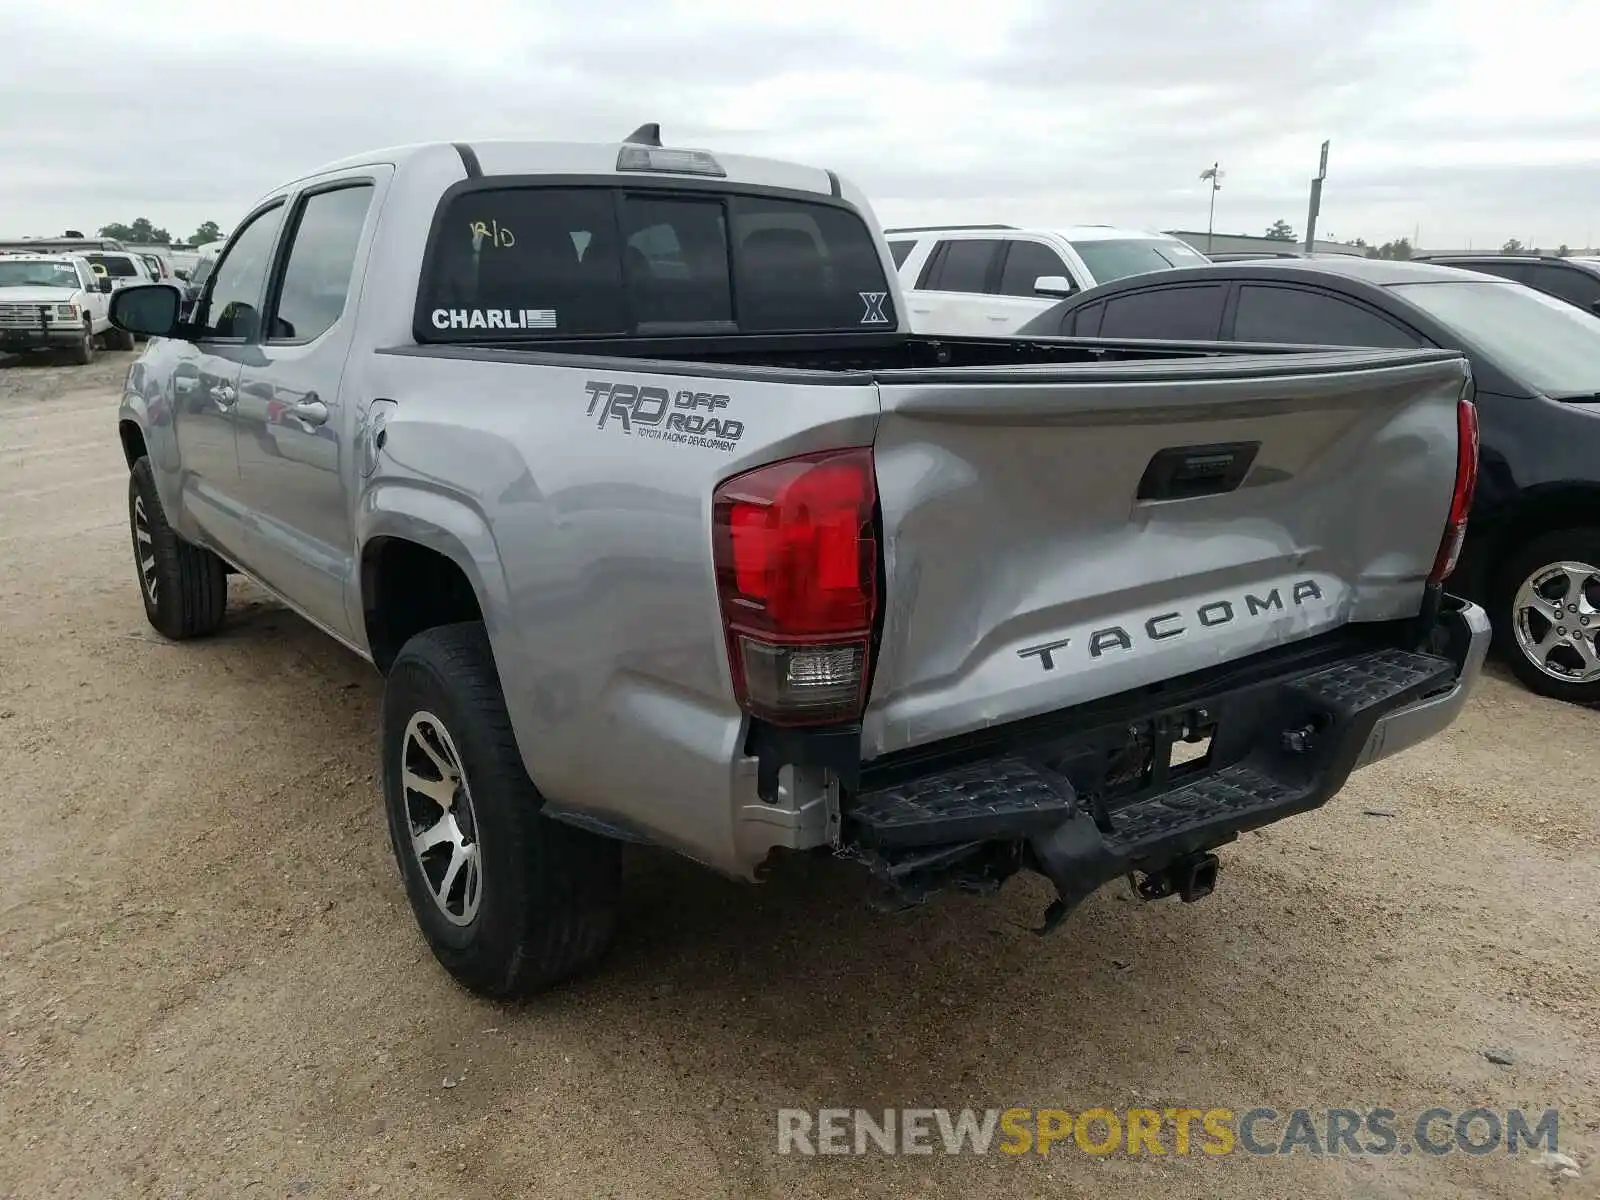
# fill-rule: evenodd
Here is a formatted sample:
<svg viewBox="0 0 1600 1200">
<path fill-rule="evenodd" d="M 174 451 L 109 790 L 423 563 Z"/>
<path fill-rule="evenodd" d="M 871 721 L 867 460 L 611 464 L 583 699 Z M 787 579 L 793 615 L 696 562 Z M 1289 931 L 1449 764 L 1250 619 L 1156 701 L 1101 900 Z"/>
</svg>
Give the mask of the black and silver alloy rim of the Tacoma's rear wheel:
<svg viewBox="0 0 1600 1200">
<path fill-rule="evenodd" d="M 400 742 L 411 854 L 438 912 L 451 925 L 470 925 L 483 896 L 478 826 L 461 754 L 450 730 L 430 712 L 406 722 Z"/>
</svg>

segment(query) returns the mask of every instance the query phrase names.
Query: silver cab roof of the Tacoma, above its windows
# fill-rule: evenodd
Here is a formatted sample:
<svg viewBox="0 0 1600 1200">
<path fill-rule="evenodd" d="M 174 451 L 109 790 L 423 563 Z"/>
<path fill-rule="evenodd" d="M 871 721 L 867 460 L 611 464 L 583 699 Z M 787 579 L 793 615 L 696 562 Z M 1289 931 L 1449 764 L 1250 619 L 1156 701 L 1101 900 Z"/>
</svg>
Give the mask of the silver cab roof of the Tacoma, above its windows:
<svg viewBox="0 0 1600 1200">
<path fill-rule="evenodd" d="M 323 163 L 315 171 L 309 171 L 299 179 L 286 184 L 293 187 L 304 179 L 312 179 L 331 171 L 344 171 L 352 166 L 368 166 L 389 163 L 397 171 L 424 158 L 450 155 L 462 163 L 477 163 L 485 176 L 515 174 L 587 174 L 587 176 L 632 176 L 634 171 L 618 171 L 618 155 L 627 146 L 646 146 L 648 142 L 546 142 L 515 139 L 485 139 L 472 142 L 413 142 L 408 146 L 390 146 L 379 150 L 339 158 Z M 659 147 L 650 147 L 659 149 Z M 818 192 L 821 195 L 840 195 L 838 176 L 818 166 L 782 162 L 779 158 L 760 158 L 744 154 L 722 154 L 718 150 L 702 150 L 701 147 L 666 147 L 667 150 L 709 154 L 717 165 L 726 171 L 726 182 L 747 184 L 757 187 L 782 187 L 797 192 Z M 467 166 L 469 173 L 472 166 Z M 658 170 L 656 174 L 675 174 L 670 170 Z M 683 173 L 685 178 L 704 178 L 694 173 Z M 274 189 L 282 190 L 282 189 Z"/>
</svg>

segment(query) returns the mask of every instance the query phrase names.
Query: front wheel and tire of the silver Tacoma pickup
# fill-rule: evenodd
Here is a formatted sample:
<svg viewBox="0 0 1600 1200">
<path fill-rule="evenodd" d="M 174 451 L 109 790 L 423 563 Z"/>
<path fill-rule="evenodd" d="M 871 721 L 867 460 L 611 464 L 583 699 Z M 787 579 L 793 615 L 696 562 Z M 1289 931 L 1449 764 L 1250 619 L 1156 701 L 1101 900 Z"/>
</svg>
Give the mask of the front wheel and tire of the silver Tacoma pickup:
<svg viewBox="0 0 1600 1200">
<path fill-rule="evenodd" d="M 166 523 L 147 458 L 128 475 L 128 530 L 144 616 L 155 630 L 173 642 L 216 632 L 227 610 L 227 571 L 211 550 L 186 542 Z"/>
</svg>

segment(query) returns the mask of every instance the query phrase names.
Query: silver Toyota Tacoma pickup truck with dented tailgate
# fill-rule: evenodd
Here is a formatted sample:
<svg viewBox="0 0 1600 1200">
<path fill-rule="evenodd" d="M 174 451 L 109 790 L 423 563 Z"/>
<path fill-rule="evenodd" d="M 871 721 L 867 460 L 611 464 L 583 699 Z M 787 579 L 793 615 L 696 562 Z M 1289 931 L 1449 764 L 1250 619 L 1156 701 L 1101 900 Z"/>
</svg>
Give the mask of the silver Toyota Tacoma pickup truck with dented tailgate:
<svg viewBox="0 0 1600 1200">
<path fill-rule="evenodd" d="M 621 144 L 285 184 L 149 334 L 120 435 L 170 638 L 254 579 L 386 675 L 389 834 L 464 986 L 594 963 L 621 846 L 890 904 L 1214 851 L 1445 728 L 1464 360 L 918 338 L 830 171 Z"/>
</svg>

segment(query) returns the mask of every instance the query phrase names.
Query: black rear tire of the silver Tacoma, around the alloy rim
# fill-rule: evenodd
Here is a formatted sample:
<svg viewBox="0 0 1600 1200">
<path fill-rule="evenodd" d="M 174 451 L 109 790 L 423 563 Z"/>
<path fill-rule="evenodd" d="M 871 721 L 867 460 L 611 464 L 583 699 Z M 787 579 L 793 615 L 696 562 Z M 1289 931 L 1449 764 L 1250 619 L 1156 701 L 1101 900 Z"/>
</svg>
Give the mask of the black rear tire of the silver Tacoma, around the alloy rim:
<svg viewBox="0 0 1600 1200">
<path fill-rule="evenodd" d="M 443 805 L 402 782 L 405 755 L 419 749 L 408 730 L 413 718 L 427 728 L 426 717 L 443 726 L 445 754 L 459 760 L 466 782 L 464 818 L 459 790 L 451 814 L 458 829 L 470 830 L 464 845 L 475 848 L 472 914 L 462 891 L 458 910 L 446 917 L 434 896 L 443 866 L 435 856 L 426 867 L 413 850 L 414 830 L 443 822 Z M 514 1000 L 570 979 L 605 955 L 616 931 L 621 845 L 539 813 L 544 800 L 522 765 L 482 622 L 438 626 L 402 646 L 384 686 L 382 755 L 389 840 L 406 898 L 434 957 L 458 982 L 478 995 Z M 413 771 L 430 771 L 424 757 L 411 762 Z M 454 843 L 442 842 L 429 854 L 438 850 L 456 853 Z M 430 869 L 438 880 L 430 882 Z M 470 888 L 470 867 L 459 875 Z M 456 886 L 446 890 L 446 907 Z"/>
</svg>

